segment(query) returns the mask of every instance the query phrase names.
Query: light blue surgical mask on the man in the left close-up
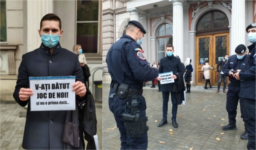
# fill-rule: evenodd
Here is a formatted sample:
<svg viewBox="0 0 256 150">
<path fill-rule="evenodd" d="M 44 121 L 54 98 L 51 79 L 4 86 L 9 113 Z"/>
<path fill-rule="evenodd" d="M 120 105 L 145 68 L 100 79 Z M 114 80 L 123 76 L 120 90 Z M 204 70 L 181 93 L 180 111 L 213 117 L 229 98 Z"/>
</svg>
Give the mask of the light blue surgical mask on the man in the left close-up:
<svg viewBox="0 0 256 150">
<path fill-rule="evenodd" d="M 41 33 L 41 40 L 45 46 L 47 46 L 49 48 L 53 48 L 58 44 L 60 35 L 42 34 Z"/>
</svg>

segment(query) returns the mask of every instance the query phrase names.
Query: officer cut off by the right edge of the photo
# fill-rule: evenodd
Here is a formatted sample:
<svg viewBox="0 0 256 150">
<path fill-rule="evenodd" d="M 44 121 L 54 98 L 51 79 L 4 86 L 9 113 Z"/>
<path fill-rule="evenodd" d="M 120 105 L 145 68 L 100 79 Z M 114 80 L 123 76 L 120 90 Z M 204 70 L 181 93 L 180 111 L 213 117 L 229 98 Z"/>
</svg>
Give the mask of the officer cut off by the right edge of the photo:
<svg viewBox="0 0 256 150">
<path fill-rule="evenodd" d="M 245 70 L 237 70 L 238 73 L 234 74 L 237 80 L 241 80 L 240 97 L 244 101 L 244 122 L 248 132 L 248 150 L 256 150 L 256 23 L 250 24 L 246 28 L 248 32 L 247 39 L 253 43 L 248 46 L 249 49 L 249 65 Z"/>
</svg>

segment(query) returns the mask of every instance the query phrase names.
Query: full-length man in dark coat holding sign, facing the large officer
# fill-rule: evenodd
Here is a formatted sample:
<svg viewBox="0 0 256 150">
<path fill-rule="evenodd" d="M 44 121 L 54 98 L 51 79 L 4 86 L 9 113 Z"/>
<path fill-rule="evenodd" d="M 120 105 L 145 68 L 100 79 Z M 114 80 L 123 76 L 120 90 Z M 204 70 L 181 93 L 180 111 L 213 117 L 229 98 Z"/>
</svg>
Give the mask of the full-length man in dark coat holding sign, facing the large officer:
<svg viewBox="0 0 256 150">
<path fill-rule="evenodd" d="M 171 78 L 174 78 L 174 80 L 177 79 L 176 74 L 181 73 L 183 74 L 183 66 L 181 63 L 181 60 L 174 57 L 174 48 L 171 44 L 168 44 L 166 46 L 166 57 L 162 58 L 160 60 L 160 66 L 159 66 L 159 73 L 165 73 L 165 72 L 173 72 L 173 75 Z M 159 76 L 158 81 L 161 81 L 161 77 Z M 176 116 L 178 111 L 178 103 L 176 98 L 176 93 L 173 90 L 175 83 L 168 83 L 168 84 L 162 84 L 160 91 L 162 91 L 162 120 L 158 124 L 158 127 L 163 126 L 167 123 L 167 111 L 168 111 L 168 101 L 169 101 L 169 95 L 171 93 L 171 102 L 172 102 L 172 125 L 173 127 L 178 127 L 178 124 L 176 122 Z"/>
</svg>

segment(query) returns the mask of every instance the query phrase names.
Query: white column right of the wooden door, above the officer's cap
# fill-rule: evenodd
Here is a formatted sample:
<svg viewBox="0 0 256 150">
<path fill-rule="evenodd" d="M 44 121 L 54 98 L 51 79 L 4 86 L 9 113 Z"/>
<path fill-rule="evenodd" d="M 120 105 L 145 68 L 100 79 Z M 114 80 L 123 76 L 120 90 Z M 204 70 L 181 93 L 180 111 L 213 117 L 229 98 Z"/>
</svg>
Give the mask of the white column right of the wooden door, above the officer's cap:
<svg viewBox="0 0 256 150">
<path fill-rule="evenodd" d="M 239 19 L 237 19 L 239 18 Z M 232 0 L 232 16 L 231 16 L 232 36 L 229 48 L 230 55 L 235 54 L 235 48 L 239 44 L 245 44 L 245 0 Z"/>
</svg>

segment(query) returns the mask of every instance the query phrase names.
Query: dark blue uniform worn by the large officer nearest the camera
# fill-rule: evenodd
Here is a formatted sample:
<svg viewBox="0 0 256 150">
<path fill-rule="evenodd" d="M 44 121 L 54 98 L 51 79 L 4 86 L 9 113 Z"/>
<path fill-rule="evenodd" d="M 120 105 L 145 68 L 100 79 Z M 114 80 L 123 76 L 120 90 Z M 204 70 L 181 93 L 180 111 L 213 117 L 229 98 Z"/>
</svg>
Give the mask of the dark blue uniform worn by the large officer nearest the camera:
<svg viewBox="0 0 256 150">
<path fill-rule="evenodd" d="M 146 61 L 143 50 L 133 38 L 123 35 L 114 43 L 106 57 L 108 72 L 112 78 L 112 84 L 126 84 L 129 88 L 142 90 L 143 82 L 152 81 L 158 77 L 158 70 L 151 68 Z M 109 92 L 111 96 L 115 91 L 113 86 Z M 139 116 L 146 118 L 146 101 L 140 94 L 137 94 L 137 105 Z M 148 145 L 147 132 L 140 137 L 132 137 L 127 133 L 128 125 L 122 119 L 122 115 L 131 112 L 131 100 L 129 97 L 120 99 L 118 94 L 113 98 L 109 97 L 109 108 L 114 114 L 121 137 L 121 150 L 146 150 Z M 125 110 L 126 108 L 126 110 Z"/>
</svg>

